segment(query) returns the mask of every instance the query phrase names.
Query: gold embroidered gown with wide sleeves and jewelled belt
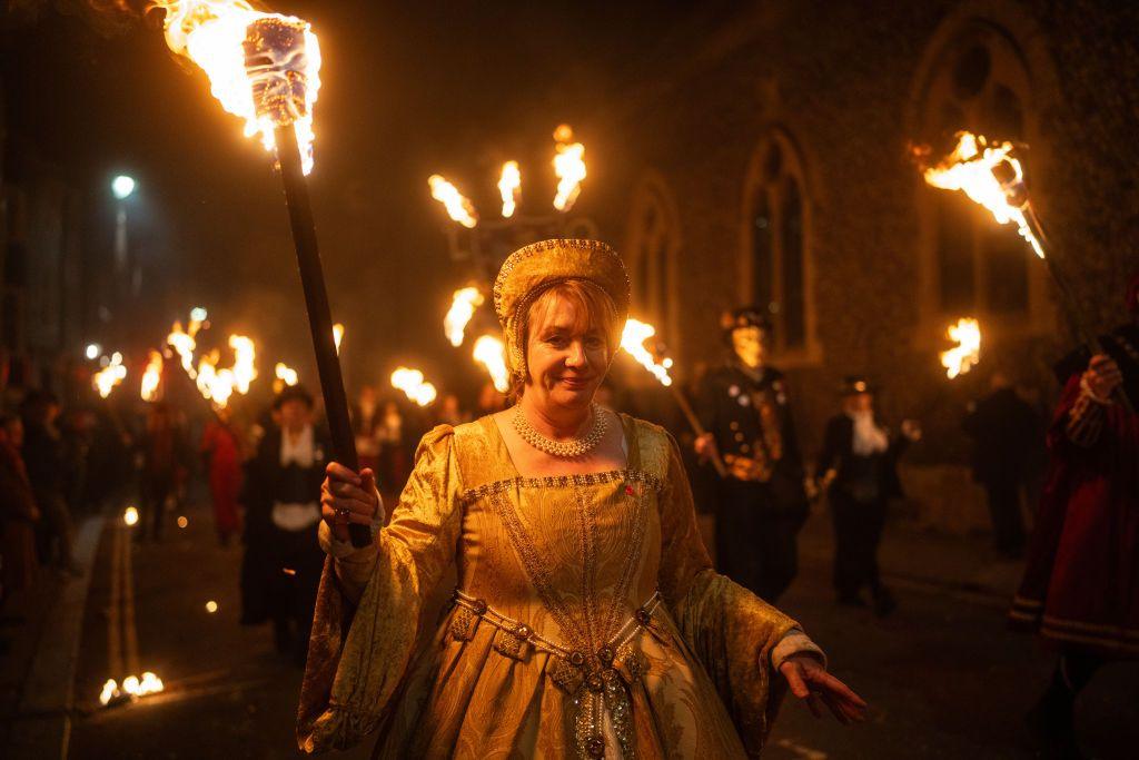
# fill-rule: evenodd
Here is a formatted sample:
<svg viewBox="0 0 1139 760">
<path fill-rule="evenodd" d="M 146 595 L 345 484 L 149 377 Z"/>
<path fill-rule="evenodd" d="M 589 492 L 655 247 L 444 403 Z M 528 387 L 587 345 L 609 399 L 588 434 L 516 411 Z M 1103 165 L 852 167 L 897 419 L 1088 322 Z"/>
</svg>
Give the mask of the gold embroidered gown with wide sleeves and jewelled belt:
<svg viewBox="0 0 1139 760">
<path fill-rule="evenodd" d="M 376 732 L 379 758 L 759 755 L 771 648 L 795 623 L 712 570 L 675 442 L 622 425 L 625 469 L 565 477 L 519 476 L 490 417 L 424 438 L 378 551 L 326 566 L 304 750 Z"/>
</svg>

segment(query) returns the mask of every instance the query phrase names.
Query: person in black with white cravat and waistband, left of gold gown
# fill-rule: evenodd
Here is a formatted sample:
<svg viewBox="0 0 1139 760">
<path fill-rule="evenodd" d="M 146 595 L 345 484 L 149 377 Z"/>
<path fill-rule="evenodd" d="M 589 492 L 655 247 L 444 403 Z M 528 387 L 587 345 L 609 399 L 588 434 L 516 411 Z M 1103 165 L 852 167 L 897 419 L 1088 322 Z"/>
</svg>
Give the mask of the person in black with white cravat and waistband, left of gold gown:
<svg viewBox="0 0 1139 760">
<path fill-rule="evenodd" d="M 265 433 L 246 464 L 246 556 L 243 622 L 273 621 L 277 648 L 304 663 L 323 567 L 317 541 L 320 484 L 331 453 L 312 422 L 313 400 L 286 387 L 273 408 L 279 425 Z"/>
</svg>

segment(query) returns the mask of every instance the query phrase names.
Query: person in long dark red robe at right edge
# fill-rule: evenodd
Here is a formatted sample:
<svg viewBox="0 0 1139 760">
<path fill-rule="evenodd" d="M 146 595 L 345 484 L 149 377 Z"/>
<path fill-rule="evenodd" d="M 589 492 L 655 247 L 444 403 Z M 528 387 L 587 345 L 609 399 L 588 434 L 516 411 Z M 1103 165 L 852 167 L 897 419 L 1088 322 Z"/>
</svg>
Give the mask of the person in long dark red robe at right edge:
<svg viewBox="0 0 1139 760">
<path fill-rule="evenodd" d="M 1055 757 L 1080 757 L 1073 709 L 1096 670 L 1139 656 L 1139 272 L 1126 297 L 1131 321 L 1100 337 L 1103 352 L 1057 366 L 1048 477 L 1009 611 L 1059 652 L 1027 717 Z"/>
</svg>

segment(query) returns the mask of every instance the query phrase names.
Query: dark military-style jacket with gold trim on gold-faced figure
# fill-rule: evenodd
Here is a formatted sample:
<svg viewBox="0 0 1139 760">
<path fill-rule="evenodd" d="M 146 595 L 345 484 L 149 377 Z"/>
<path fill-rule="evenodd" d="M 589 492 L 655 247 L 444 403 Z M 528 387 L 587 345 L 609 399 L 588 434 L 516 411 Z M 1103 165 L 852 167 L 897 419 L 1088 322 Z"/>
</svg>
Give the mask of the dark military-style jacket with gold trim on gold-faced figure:
<svg viewBox="0 0 1139 760">
<path fill-rule="evenodd" d="M 728 361 L 704 378 L 697 407 L 730 477 L 771 483 L 781 500 L 797 502 L 805 500 L 803 460 L 788 401 L 778 369 Z"/>
</svg>

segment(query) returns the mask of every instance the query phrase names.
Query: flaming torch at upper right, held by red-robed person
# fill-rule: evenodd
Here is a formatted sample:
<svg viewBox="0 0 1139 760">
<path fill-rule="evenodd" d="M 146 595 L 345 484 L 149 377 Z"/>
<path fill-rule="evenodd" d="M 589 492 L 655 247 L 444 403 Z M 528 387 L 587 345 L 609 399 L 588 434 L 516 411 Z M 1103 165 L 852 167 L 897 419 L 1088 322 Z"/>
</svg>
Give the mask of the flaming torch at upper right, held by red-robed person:
<svg viewBox="0 0 1139 760">
<path fill-rule="evenodd" d="M 1075 296 L 1050 255 L 1048 236 L 1029 199 L 1029 187 L 1021 162 L 1013 157 L 1011 142 L 990 144 L 984 137 L 972 132 L 958 132 L 957 147 L 936 166 L 924 171 L 925 181 L 943 190 L 960 190 L 993 215 L 1001 224 L 1015 223 L 1017 231 L 1033 252 L 1043 260 L 1048 273 L 1059 293 L 1060 308 L 1067 314 L 1080 341 L 1093 353 L 1103 353 L 1099 340 L 1088 332 L 1080 313 Z M 927 154 L 919 149 L 919 155 Z M 1128 411 L 1133 411 L 1122 387 L 1115 392 L 1116 399 Z"/>
</svg>

